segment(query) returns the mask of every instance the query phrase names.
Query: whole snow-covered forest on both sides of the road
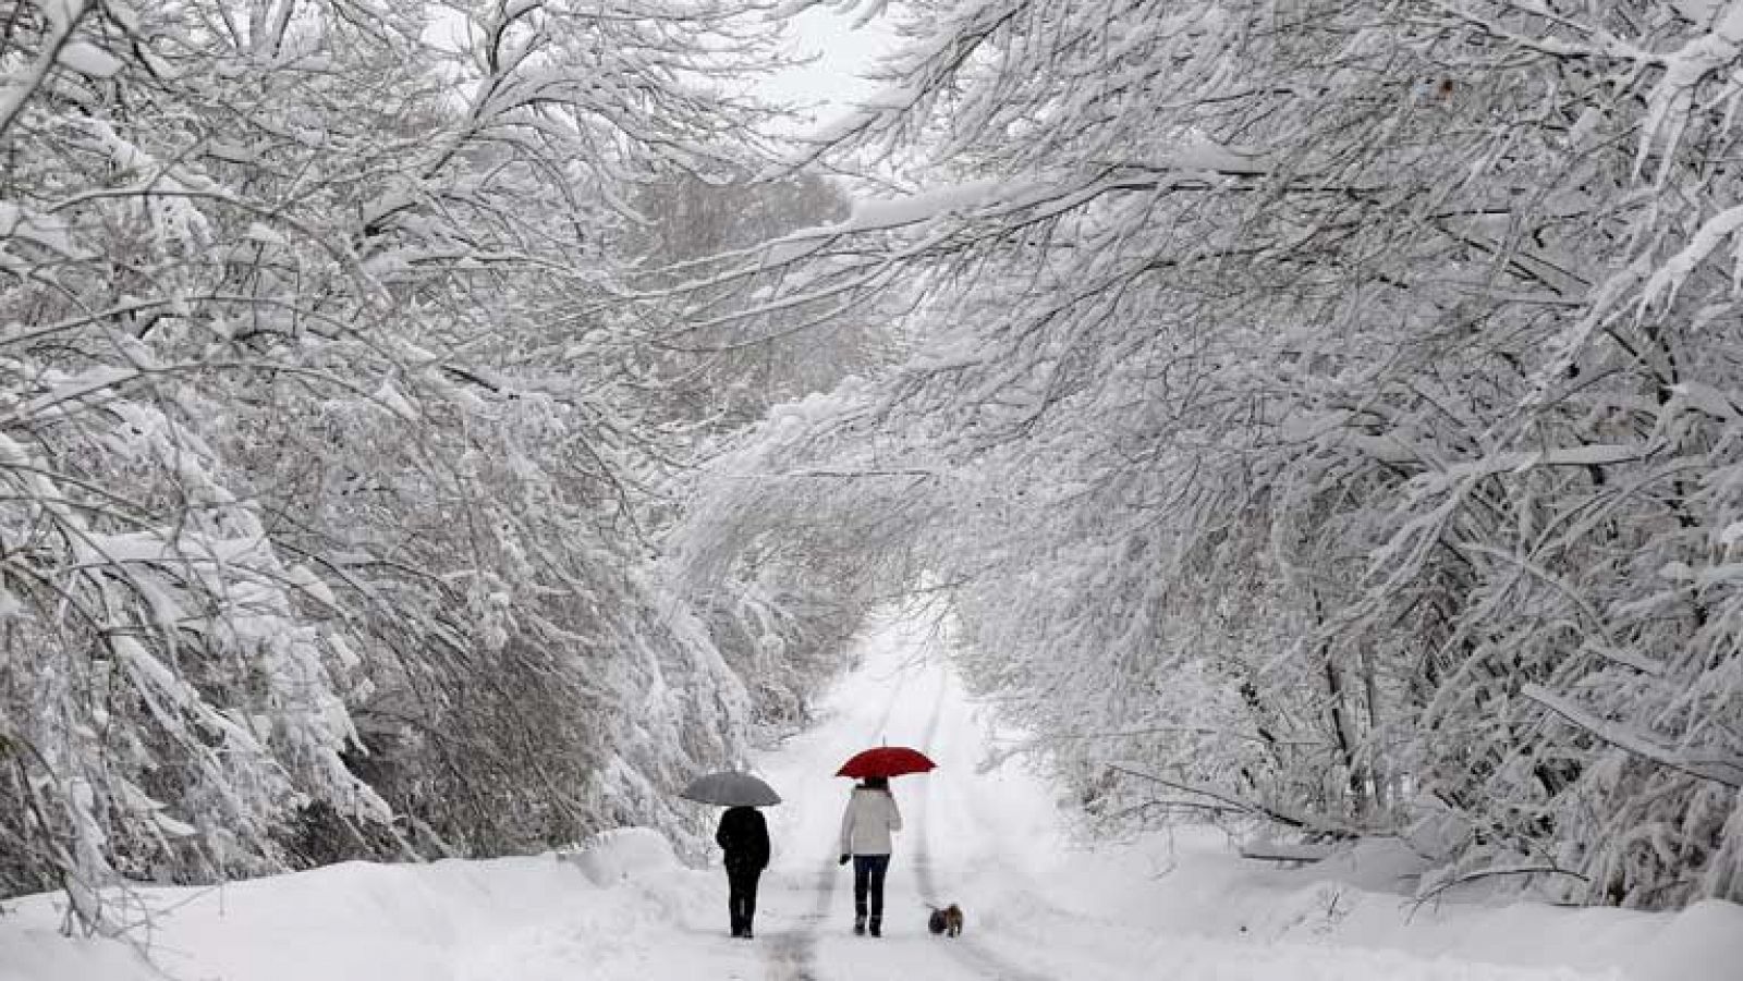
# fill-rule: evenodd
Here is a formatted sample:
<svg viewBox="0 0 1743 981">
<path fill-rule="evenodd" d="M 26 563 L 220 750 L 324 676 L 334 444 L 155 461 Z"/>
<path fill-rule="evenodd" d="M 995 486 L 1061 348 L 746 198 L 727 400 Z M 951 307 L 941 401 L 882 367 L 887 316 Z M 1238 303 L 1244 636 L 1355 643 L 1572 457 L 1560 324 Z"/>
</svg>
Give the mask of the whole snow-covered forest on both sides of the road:
<svg viewBox="0 0 1743 981">
<path fill-rule="evenodd" d="M 791 136 L 783 21 L 887 21 Z M 1088 833 L 1743 901 L 1743 3 L 0 0 L 0 896 L 622 824 L 948 622 Z"/>
</svg>

